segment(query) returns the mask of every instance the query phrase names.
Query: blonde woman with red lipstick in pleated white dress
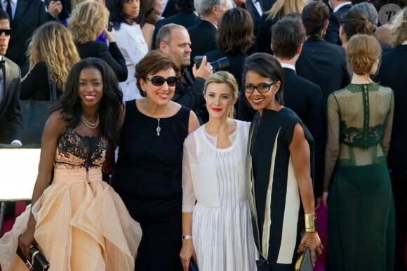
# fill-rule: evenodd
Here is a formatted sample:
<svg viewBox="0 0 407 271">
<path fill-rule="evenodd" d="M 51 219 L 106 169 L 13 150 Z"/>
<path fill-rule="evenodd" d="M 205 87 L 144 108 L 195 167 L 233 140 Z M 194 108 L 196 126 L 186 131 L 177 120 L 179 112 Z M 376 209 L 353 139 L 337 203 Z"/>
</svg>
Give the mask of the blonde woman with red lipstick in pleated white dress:
<svg viewBox="0 0 407 271">
<path fill-rule="evenodd" d="M 185 139 L 180 252 L 185 271 L 191 258 L 201 271 L 256 270 L 245 170 L 250 123 L 232 119 L 237 88 L 229 72 L 211 74 L 204 90 L 209 121 Z"/>
</svg>

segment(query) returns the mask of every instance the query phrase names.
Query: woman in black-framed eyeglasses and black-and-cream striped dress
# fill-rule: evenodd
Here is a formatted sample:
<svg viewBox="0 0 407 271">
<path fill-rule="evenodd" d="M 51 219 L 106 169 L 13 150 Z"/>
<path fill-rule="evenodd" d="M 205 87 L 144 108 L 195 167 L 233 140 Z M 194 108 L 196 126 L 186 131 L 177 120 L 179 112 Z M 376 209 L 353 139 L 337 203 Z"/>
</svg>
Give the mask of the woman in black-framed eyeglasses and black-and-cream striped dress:
<svg viewBox="0 0 407 271">
<path fill-rule="evenodd" d="M 315 263 L 323 249 L 312 190 L 314 140 L 297 114 L 283 107 L 283 69 L 276 58 L 251 55 L 243 80 L 245 97 L 258 111 L 246 168 L 255 242 L 270 270 L 294 270 L 298 251 L 309 247 Z"/>
</svg>

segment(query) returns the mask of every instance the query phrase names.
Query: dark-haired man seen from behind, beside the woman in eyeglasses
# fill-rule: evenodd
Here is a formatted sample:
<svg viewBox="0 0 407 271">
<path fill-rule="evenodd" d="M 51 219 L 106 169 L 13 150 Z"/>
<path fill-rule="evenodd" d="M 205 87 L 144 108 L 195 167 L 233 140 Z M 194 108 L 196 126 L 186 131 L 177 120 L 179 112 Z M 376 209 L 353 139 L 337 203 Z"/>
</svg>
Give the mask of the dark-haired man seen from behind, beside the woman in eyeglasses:
<svg viewBox="0 0 407 271">
<path fill-rule="evenodd" d="M 314 196 L 320 199 L 325 148 L 323 102 L 321 88 L 295 73 L 295 62 L 300 56 L 304 40 L 305 31 L 300 22 L 282 19 L 272 27 L 272 50 L 284 70 L 284 105 L 298 114 L 314 138 Z"/>
</svg>

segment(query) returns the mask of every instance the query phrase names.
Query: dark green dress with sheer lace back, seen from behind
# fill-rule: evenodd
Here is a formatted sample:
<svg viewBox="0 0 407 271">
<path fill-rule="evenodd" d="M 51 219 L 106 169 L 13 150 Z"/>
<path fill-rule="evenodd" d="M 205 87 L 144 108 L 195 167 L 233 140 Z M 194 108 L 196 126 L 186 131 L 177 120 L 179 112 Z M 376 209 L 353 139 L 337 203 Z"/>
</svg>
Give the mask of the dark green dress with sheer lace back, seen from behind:
<svg viewBox="0 0 407 271">
<path fill-rule="evenodd" d="M 394 204 L 386 163 L 393 111 L 392 89 L 378 84 L 349 84 L 328 97 L 326 270 L 393 270 Z"/>
</svg>

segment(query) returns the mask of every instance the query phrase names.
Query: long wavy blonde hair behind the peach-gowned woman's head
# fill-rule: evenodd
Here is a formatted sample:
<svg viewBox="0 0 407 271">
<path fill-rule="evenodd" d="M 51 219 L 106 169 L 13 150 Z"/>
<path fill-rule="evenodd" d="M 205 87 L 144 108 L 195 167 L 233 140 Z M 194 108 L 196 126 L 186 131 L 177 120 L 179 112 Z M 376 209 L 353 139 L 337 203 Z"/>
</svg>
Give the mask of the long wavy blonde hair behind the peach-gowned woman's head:
<svg viewBox="0 0 407 271">
<path fill-rule="evenodd" d="M 58 89 L 63 89 L 71 67 L 81 60 L 69 30 L 58 22 L 47 22 L 34 31 L 27 57 L 31 68 L 45 62 Z"/>
</svg>

